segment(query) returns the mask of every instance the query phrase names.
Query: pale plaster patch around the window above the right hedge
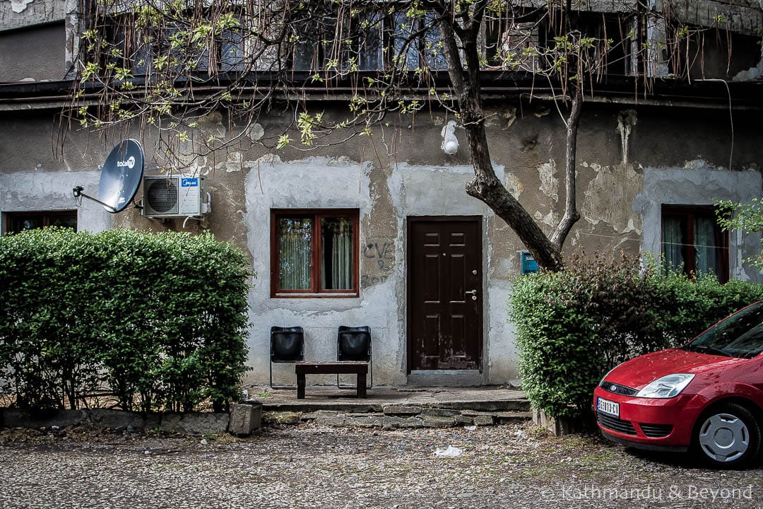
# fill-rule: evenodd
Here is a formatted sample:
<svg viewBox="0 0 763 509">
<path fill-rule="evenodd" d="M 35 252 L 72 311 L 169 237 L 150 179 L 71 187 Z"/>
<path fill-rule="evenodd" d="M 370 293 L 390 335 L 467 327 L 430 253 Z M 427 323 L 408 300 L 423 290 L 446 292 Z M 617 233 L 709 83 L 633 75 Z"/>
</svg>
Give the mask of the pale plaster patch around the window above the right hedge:
<svg viewBox="0 0 763 509">
<path fill-rule="evenodd" d="M 729 172 L 713 168 L 701 160 L 684 168 L 645 168 L 643 191 L 633 201 L 633 211 L 643 216 L 641 250 L 658 256 L 662 251 L 662 205 L 713 205 L 713 200 L 749 203 L 760 198 L 763 183 L 758 171 Z M 729 276 L 763 282 L 761 271 L 742 263 L 760 250 L 760 235 L 729 233 Z"/>
</svg>

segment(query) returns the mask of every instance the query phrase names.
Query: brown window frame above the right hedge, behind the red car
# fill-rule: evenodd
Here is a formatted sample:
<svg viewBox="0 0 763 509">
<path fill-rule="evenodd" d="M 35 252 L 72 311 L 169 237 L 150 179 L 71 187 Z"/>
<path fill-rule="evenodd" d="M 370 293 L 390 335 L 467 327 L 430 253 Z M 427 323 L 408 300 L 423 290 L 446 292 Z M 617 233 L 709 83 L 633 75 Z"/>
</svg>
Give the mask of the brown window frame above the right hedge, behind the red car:
<svg viewBox="0 0 763 509">
<path fill-rule="evenodd" d="M 696 217 L 712 217 L 715 220 L 716 227 L 716 255 L 718 256 L 718 266 L 720 274 L 717 274 L 721 283 L 729 281 L 729 232 L 721 230 L 718 225 L 718 208 L 714 205 L 662 205 L 662 214 L 660 215 L 660 252 L 665 255 L 663 248 L 663 239 L 665 238 L 665 218 L 682 217 L 686 221 L 686 236 L 684 243 L 684 274 L 697 274 L 697 240 L 694 237 L 694 223 Z"/>
</svg>

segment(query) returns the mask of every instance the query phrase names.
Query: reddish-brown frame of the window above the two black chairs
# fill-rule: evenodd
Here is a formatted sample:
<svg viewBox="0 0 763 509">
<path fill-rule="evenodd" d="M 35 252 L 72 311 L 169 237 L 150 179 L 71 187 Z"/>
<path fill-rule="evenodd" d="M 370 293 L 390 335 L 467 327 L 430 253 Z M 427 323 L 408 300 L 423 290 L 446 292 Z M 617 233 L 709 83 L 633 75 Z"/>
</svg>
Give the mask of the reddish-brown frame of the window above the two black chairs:
<svg viewBox="0 0 763 509">
<path fill-rule="evenodd" d="M 311 246 L 311 288 L 285 290 L 280 288 L 280 232 L 278 219 L 282 217 L 311 217 L 313 221 Z M 346 290 L 321 289 L 320 219 L 323 217 L 349 217 L 353 221 L 353 288 Z M 355 298 L 360 295 L 360 211 L 357 208 L 274 208 L 270 211 L 270 296 L 272 298 Z"/>
</svg>

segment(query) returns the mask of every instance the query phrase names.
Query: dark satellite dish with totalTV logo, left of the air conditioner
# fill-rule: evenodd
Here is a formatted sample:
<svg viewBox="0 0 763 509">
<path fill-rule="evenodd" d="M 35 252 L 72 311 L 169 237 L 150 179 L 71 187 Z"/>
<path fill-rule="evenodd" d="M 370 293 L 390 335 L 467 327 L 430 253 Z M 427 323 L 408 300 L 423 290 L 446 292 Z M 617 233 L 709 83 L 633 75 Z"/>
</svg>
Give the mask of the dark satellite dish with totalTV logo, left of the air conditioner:
<svg viewBox="0 0 763 509">
<path fill-rule="evenodd" d="M 111 150 L 101 169 L 98 201 L 112 214 L 121 212 L 140 187 L 143 178 L 143 147 L 138 140 L 124 140 Z"/>
</svg>

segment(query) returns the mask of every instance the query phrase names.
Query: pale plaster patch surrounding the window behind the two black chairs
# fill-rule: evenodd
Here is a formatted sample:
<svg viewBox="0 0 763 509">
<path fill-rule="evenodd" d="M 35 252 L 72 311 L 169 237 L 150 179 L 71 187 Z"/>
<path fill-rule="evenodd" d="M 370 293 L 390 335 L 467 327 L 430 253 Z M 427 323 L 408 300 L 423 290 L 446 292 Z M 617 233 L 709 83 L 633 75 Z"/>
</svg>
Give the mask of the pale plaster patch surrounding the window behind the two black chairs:
<svg viewBox="0 0 763 509">
<path fill-rule="evenodd" d="M 250 292 L 250 366 L 260 374 L 258 381 L 262 382 L 262 373 L 269 369 L 270 327 L 304 327 L 305 357 L 330 360 L 336 359 L 336 327 L 368 325 L 375 341 L 375 381 L 400 384 L 398 353 L 402 348 L 395 278 L 364 288 L 361 298 L 270 298 L 270 209 L 358 208 L 364 224 L 372 210 L 371 169 L 348 159 L 311 157 L 289 163 L 277 156 L 268 159 L 259 164 L 258 172 L 246 177 L 249 250 L 257 272 L 256 286 Z M 361 233 L 361 243 L 365 241 Z M 275 365 L 274 376 L 282 384 L 294 383 L 291 365 Z"/>
</svg>

